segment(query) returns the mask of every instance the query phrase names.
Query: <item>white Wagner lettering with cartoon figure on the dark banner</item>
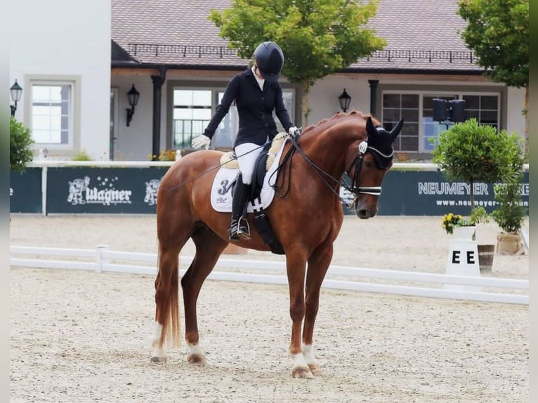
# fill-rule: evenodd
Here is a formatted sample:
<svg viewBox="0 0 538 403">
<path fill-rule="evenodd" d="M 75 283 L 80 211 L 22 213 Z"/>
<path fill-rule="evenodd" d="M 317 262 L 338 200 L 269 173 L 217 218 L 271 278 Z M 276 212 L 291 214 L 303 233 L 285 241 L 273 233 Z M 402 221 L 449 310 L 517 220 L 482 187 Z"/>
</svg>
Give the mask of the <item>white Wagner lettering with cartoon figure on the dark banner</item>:
<svg viewBox="0 0 538 403">
<path fill-rule="evenodd" d="M 73 206 L 77 204 L 103 204 L 110 206 L 116 204 L 131 204 L 131 190 L 118 190 L 114 178 L 97 177 L 96 185 L 90 186 L 90 178 L 74 179 L 69 182 L 69 196 L 67 202 Z"/>
</svg>

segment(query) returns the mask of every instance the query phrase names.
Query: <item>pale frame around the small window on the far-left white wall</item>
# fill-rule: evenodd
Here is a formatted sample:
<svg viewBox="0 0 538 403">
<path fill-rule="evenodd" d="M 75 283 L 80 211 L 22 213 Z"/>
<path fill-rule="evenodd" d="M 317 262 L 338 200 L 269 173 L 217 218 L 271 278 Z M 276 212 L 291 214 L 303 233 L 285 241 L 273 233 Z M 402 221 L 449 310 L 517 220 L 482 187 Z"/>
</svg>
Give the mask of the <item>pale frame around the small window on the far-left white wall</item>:
<svg viewBox="0 0 538 403">
<path fill-rule="evenodd" d="M 48 150 L 51 157 L 72 157 L 79 152 L 80 147 L 80 81 L 79 76 L 56 76 L 56 75 L 29 75 L 25 77 L 26 88 L 29 95 L 25 97 L 25 122 L 32 130 L 33 127 L 33 98 L 34 86 L 69 86 L 69 132 L 67 144 L 58 143 L 34 143 L 34 150 Z"/>
</svg>

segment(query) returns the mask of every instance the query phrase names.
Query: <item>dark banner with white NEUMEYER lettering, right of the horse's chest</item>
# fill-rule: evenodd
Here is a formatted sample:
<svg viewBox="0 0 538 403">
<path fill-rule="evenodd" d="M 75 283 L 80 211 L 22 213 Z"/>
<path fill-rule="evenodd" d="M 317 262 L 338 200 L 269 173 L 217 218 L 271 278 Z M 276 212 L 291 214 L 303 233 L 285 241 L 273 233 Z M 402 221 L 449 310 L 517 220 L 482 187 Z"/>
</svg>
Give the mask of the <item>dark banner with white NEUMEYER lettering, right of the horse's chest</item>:
<svg viewBox="0 0 538 403">
<path fill-rule="evenodd" d="M 473 185 L 475 205 L 491 213 L 497 206 L 492 184 Z M 529 206 L 529 173 L 521 184 L 523 206 Z M 341 197 L 352 200 L 341 190 Z M 471 186 L 464 182 L 449 182 L 438 171 L 388 171 L 379 197 L 379 215 L 442 216 L 446 213 L 468 216 L 471 212 Z M 344 213 L 355 214 L 344 207 Z"/>
</svg>

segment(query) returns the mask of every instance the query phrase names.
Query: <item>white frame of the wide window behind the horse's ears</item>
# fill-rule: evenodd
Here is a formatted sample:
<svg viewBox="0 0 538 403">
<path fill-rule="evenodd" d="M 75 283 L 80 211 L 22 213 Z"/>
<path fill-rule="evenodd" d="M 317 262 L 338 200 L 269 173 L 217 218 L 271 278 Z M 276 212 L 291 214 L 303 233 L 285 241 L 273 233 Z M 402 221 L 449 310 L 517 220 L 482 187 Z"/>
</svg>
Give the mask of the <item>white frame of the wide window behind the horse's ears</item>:
<svg viewBox="0 0 538 403">
<path fill-rule="evenodd" d="M 434 96 L 450 96 L 450 95 L 457 95 L 457 99 L 461 100 L 463 99 L 464 95 L 486 95 L 486 96 L 497 96 L 497 130 L 501 129 L 501 92 L 500 91 L 450 91 L 450 90 L 442 90 L 442 91 L 412 91 L 412 90 L 398 90 L 398 89 L 390 89 L 390 90 L 383 90 L 381 92 L 381 121 L 384 121 L 383 116 L 383 95 L 385 94 L 412 94 L 412 95 L 419 95 L 419 150 L 416 151 L 409 151 L 409 150 L 402 150 L 403 152 L 419 152 L 419 153 L 428 153 L 431 154 L 432 150 L 426 150 L 424 148 L 424 95 L 434 95 Z"/>
</svg>

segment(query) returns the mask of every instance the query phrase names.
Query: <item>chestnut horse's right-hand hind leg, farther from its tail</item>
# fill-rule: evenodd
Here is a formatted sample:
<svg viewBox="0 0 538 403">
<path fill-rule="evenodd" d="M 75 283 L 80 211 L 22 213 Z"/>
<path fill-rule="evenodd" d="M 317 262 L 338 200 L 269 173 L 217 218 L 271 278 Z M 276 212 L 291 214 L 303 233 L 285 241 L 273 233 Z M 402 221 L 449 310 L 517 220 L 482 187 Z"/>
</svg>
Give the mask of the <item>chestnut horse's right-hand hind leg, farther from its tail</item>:
<svg viewBox="0 0 538 403">
<path fill-rule="evenodd" d="M 183 303 L 185 305 L 185 341 L 190 348 L 188 362 L 203 363 L 204 353 L 199 346 L 196 301 L 204 280 L 211 273 L 228 242 L 218 237 L 205 226 L 198 227 L 192 233 L 196 245 L 194 260 L 181 278 Z"/>
</svg>

